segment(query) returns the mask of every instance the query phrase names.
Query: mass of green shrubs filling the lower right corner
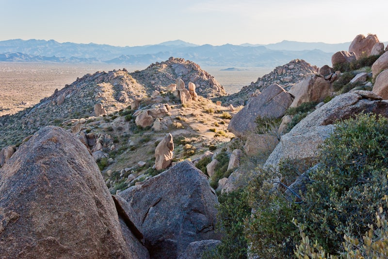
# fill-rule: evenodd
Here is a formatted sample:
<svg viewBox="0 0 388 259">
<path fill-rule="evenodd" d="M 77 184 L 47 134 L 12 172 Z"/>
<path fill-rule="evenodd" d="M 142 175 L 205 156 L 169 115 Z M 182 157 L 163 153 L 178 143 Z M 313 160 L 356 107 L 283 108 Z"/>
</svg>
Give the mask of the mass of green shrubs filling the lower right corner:
<svg viewBox="0 0 388 259">
<path fill-rule="evenodd" d="M 241 220 L 250 252 L 259 258 L 386 258 L 387 118 L 360 114 L 339 122 L 315 165 L 306 171 L 284 162 L 277 171 L 253 172 L 246 188 L 252 213 Z M 290 191 L 303 172 L 304 191 Z M 222 206 L 219 219 L 227 222 L 235 207 L 232 201 Z M 226 231 L 226 239 L 234 235 Z M 219 246 L 217 253 L 227 249 Z"/>
</svg>

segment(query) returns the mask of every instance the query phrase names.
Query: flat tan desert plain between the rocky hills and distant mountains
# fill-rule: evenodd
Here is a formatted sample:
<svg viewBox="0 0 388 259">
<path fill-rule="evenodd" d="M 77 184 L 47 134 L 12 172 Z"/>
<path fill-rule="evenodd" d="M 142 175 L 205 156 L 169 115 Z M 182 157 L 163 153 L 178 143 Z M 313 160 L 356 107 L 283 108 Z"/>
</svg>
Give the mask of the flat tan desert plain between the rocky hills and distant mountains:
<svg viewBox="0 0 388 259">
<path fill-rule="evenodd" d="M 117 64 L 21 63 L 0 62 L 0 116 L 39 103 L 55 89 L 73 83 L 77 77 L 97 71 L 126 68 L 128 71 L 146 69 L 146 66 Z M 222 71 L 225 67 L 202 67 L 225 87 L 226 92 L 238 92 L 242 86 L 256 82 L 271 69 L 243 68 Z"/>
</svg>

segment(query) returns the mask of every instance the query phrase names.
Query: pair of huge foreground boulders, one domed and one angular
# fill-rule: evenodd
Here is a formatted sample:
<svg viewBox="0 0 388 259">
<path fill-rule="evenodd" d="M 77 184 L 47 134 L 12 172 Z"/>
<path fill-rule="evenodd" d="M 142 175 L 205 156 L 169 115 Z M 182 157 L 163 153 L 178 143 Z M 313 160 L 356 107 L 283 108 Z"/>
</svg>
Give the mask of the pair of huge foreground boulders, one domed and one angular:
<svg viewBox="0 0 388 259">
<path fill-rule="evenodd" d="M 219 243 L 217 196 L 187 161 L 111 196 L 85 145 L 48 126 L 0 179 L 3 258 L 188 258 Z"/>
</svg>

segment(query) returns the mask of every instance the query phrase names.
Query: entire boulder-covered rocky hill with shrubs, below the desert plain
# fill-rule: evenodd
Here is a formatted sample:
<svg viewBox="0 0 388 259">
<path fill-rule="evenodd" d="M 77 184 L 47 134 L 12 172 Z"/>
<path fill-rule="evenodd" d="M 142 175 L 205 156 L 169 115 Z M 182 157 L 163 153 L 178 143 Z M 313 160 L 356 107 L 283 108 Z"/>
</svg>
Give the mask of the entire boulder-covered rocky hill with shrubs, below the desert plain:
<svg viewBox="0 0 388 259">
<path fill-rule="evenodd" d="M 384 253 L 387 60 L 358 35 L 332 67 L 292 60 L 226 95 L 171 57 L 0 117 L 0 257 L 305 258 L 307 235 Z"/>
</svg>

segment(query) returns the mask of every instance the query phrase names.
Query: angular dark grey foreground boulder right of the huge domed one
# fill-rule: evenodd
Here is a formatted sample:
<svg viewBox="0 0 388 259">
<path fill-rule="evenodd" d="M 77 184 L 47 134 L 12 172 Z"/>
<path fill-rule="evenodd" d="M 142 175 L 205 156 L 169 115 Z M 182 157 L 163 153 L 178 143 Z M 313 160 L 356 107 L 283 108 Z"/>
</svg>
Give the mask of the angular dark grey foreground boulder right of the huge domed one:
<svg viewBox="0 0 388 259">
<path fill-rule="evenodd" d="M 217 196 L 191 162 L 180 162 L 118 195 L 140 217 L 151 258 L 177 258 L 191 242 L 218 239 Z"/>
</svg>

